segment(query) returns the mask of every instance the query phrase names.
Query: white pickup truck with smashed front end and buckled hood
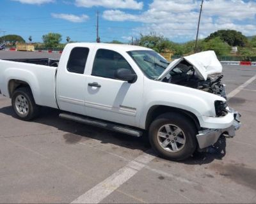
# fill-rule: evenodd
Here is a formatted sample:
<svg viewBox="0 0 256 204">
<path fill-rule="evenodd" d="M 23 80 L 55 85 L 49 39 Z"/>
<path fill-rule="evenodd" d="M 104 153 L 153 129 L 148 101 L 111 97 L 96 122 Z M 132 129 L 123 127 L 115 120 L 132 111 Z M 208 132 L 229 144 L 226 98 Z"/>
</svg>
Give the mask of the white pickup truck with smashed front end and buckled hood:
<svg viewBox="0 0 256 204">
<path fill-rule="evenodd" d="M 181 160 L 240 127 L 221 71 L 213 51 L 170 63 L 145 47 L 70 43 L 60 61 L 0 60 L 0 94 L 12 98 L 19 119 L 33 119 L 40 106 L 58 108 L 64 119 L 146 132 L 159 156 Z"/>
</svg>

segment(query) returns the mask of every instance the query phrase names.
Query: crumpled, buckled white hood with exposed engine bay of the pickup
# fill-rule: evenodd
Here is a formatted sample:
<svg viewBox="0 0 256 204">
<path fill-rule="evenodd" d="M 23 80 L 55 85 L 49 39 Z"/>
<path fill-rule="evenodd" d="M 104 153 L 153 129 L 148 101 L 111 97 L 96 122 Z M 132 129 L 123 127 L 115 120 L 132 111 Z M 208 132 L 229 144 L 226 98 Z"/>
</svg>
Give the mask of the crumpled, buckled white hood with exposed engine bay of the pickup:
<svg viewBox="0 0 256 204">
<path fill-rule="evenodd" d="M 158 80 L 183 85 L 226 98 L 222 66 L 213 51 L 182 57 L 170 63 Z"/>
</svg>

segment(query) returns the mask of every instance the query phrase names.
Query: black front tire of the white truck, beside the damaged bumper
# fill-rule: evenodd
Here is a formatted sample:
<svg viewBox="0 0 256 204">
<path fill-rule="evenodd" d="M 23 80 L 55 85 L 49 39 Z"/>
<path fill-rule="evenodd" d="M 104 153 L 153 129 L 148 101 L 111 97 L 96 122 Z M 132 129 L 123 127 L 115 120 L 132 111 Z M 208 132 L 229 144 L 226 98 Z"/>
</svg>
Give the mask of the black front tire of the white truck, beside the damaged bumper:
<svg viewBox="0 0 256 204">
<path fill-rule="evenodd" d="M 159 133 L 160 130 L 164 131 L 166 129 L 165 128 L 166 126 L 164 125 L 167 125 L 167 124 L 171 124 L 169 126 L 171 127 L 171 129 L 172 128 L 176 129 L 176 127 L 179 127 L 181 129 L 182 132 L 179 133 L 179 139 L 182 138 L 183 139 L 182 142 L 184 142 L 184 144 L 173 142 L 174 139 L 177 140 L 178 136 L 176 136 L 175 138 L 172 134 L 168 135 L 168 133 L 166 133 L 167 134 L 166 136 L 168 136 L 168 138 L 170 139 L 168 141 L 171 141 L 172 143 L 167 142 L 168 146 L 166 146 L 165 148 L 162 147 L 162 145 L 165 145 L 165 144 L 160 140 L 164 141 L 164 140 L 167 140 L 168 138 L 164 138 L 164 136 L 163 138 L 159 137 L 157 136 L 157 133 Z M 164 129 L 161 129 L 162 127 Z M 162 131 L 160 131 L 160 133 L 162 133 Z M 163 157 L 164 159 L 170 159 L 173 161 L 180 161 L 180 160 L 187 159 L 189 156 L 191 156 L 195 152 L 196 146 L 197 146 L 196 128 L 195 128 L 195 125 L 193 124 L 193 121 L 180 113 L 170 112 L 170 113 L 164 113 L 162 115 L 159 115 L 159 117 L 157 117 L 152 122 L 152 124 L 150 124 L 148 136 L 149 136 L 150 144 L 152 145 L 152 148 L 156 151 L 156 153 L 160 157 Z M 172 138 L 170 136 L 172 136 Z M 172 145 L 174 145 L 173 143 L 175 143 L 175 148 L 177 148 L 177 145 L 179 145 L 180 150 L 177 149 L 177 152 L 175 152 L 175 149 L 174 150 L 172 149 Z"/>
</svg>

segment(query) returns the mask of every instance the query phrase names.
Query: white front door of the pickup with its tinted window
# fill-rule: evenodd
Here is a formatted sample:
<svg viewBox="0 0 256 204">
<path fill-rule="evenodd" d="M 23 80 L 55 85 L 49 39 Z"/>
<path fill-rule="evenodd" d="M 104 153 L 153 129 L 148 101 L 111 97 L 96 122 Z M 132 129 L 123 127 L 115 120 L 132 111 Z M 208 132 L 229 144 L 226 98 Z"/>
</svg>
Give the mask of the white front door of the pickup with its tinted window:
<svg viewBox="0 0 256 204">
<path fill-rule="evenodd" d="M 120 68 L 135 73 L 132 62 L 128 54 L 102 48 L 97 50 L 91 75 L 87 75 L 86 115 L 130 126 L 140 124 L 143 77 L 138 77 L 133 84 L 114 77 L 116 69 Z"/>
</svg>

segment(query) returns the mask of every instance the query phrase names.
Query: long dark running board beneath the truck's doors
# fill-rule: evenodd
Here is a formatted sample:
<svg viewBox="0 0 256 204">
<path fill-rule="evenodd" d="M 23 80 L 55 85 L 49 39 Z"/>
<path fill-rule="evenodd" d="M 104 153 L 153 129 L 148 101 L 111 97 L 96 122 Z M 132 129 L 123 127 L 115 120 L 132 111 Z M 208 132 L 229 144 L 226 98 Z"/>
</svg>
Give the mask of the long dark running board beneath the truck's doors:
<svg viewBox="0 0 256 204">
<path fill-rule="evenodd" d="M 79 116 L 79 115 L 60 113 L 59 117 L 61 119 L 74 120 L 76 122 L 81 122 L 86 125 L 109 129 L 111 131 L 116 131 L 118 133 L 124 133 L 124 134 L 131 135 L 131 136 L 140 137 L 142 135 L 142 131 L 139 131 L 136 129 L 126 128 L 124 126 L 118 126 L 116 124 L 109 123 L 109 122 L 103 122 L 100 120 L 89 119 L 87 117 L 83 117 L 83 116 Z"/>
</svg>

